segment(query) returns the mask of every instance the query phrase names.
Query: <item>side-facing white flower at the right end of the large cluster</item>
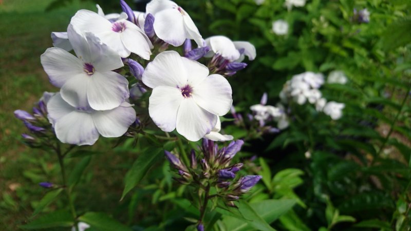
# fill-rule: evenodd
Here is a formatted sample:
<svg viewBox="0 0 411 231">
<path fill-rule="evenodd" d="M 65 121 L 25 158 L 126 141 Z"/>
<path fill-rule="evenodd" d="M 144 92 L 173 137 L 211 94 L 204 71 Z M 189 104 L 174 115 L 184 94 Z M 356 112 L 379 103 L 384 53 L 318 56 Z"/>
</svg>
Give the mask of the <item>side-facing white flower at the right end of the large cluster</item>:
<svg viewBox="0 0 411 231">
<path fill-rule="evenodd" d="M 241 62 L 244 56 L 249 60 L 254 60 L 256 51 L 254 45 L 246 41 L 231 41 L 230 38 L 222 35 L 216 35 L 206 38 L 206 44 L 210 51 L 204 55 L 212 57 L 214 54 L 221 55 L 224 59 L 231 62 Z"/>
</svg>

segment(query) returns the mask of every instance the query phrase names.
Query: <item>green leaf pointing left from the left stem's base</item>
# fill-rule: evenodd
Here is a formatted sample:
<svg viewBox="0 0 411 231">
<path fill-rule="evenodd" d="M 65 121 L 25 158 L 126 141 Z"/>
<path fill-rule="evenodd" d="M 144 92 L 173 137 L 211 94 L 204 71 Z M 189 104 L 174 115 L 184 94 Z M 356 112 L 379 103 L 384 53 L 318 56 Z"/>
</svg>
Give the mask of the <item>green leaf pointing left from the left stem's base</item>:
<svg viewBox="0 0 411 231">
<path fill-rule="evenodd" d="M 39 229 L 52 227 L 71 227 L 74 225 L 73 217 L 69 211 L 60 210 L 43 215 L 26 225 L 20 226 L 24 229 Z"/>
</svg>

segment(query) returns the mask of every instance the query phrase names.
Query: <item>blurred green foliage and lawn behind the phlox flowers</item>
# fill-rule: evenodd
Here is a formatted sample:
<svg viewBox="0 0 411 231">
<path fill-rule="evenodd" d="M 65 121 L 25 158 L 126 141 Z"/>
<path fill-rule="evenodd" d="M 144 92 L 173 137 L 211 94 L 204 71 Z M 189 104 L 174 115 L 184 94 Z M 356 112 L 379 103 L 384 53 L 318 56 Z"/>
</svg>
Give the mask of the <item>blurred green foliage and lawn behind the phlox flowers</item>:
<svg viewBox="0 0 411 231">
<path fill-rule="evenodd" d="M 291 10 L 277 0 L 261 5 L 253 0 L 176 2 L 189 12 L 204 38 L 221 34 L 255 45 L 256 60 L 229 78 L 237 112 L 249 113 L 263 92 L 268 92 L 268 104 L 275 105 L 294 74 L 342 70 L 348 78 L 346 85 L 322 88 L 327 100 L 346 105 L 338 121 L 330 122 L 324 114 L 301 106 L 294 110 L 301 120 L 293 120 L 290 128 L 253 139 L 243 128 L 223 123 L 226 133 L 247 140 L 237 157 L 246 164 L 242 171 L 263 176 L 246 198 L 261 217 L 278 230 L 410 229 L 410 1 L 310 0 Z M 121 9 L 118 1 L 95 3 L 105 13 Z M 1 230 L 18 230 L 31 220 L 45 194 L 37 183 L 59 181 L 57 158 L 24 147 L 18 139 L 24 128 L 12 111 L 29 110 L 44 90 L 56 90 L 40 65 L 40 55 L 52 46 L 49 34 L 65 31 L 78 9 L 96 11 L 95 3 L 0 3 L 0 19 L 7 22 L 0 24 Z M 370 22 L 354 21 L 354 9 L 364 8 L 370 12 Z M 141 5 L 135 9 L 144 11 Z M 272 32 L 272 22 L 279 19 L 290 25 L 287 35 Z M 144 142 L 152 145 L 144 139 L 139 145 Z M 80 157 L 69 158 L 70 172 L 76 172 L 72 169 L 80 163 L 84 166 L 76 186 L 80 212 L 104 212 L 134 230 L 183 230 L 190 225 L 190 218 L 197 216 L 191 202 L 183 199 L 190 190 L 173 182 L 169 164 L 161 158 L 139 187 L 119 202 L 123 177 L 140 154 L 132 141 L 107 151 L 114 144 L 100 139 L 96 146 L 82 149 Z M 260 203 L 272 199 L 281 199 L 282 204 Z M 44 212 L 64 204 L 65 199 L 59 198 Z M 214 223 L 209 230 L 256 229 L 223 211 L 207 219 Z"/>
</svg>

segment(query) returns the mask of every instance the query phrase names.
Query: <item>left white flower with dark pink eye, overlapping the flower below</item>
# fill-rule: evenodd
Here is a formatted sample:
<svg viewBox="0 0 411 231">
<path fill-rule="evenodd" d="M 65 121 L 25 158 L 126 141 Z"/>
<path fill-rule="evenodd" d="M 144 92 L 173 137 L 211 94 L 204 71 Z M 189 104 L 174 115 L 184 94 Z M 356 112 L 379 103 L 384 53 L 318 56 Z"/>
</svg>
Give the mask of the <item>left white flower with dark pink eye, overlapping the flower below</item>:
<svg viewBox="0 0 411 231">
<path fill-rule="evenodd" d="M 120 56 L 91 33 L 83 37 L 71 25 L 69 41 L 77 57 L 57 47 L 41 55 L 50 83 L 60 87 L 62 98 L 71 106 L 90 105 L 95 110 L 118 107 L 129 97 L 128 81 L 111 71 L 123 67 Z"/>
</svg>

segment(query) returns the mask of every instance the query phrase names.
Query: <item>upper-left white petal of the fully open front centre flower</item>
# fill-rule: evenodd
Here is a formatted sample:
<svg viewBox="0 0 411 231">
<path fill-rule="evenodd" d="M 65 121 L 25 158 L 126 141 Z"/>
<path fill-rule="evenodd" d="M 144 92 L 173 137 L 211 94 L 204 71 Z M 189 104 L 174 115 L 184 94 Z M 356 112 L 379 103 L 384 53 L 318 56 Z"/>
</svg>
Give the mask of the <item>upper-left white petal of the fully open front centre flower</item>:
<svg viewBox="0 0 411 231">
<path fill-rule="evenodd" d="M 164 51 L 147 64 L 142 80 L 151 88 L 157 86 L 184 87 L 187 83 L 187 74 L 176 51 Z"/>
</svg>

